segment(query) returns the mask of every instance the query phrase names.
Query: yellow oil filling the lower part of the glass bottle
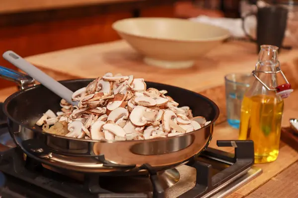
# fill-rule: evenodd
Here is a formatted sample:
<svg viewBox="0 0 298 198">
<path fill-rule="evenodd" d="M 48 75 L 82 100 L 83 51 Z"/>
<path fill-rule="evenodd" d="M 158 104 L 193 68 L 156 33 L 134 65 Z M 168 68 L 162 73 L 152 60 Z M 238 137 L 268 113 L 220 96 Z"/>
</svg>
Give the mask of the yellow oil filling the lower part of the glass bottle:
<svg viewBox="0 0 298 198">
<path fill-rule="evenodd" d="M 256 95 L 242 101 L 239 140 L 254 142 L 255 163 L 277 159 L 284 101 L 275 96 Z"/>
</svg>

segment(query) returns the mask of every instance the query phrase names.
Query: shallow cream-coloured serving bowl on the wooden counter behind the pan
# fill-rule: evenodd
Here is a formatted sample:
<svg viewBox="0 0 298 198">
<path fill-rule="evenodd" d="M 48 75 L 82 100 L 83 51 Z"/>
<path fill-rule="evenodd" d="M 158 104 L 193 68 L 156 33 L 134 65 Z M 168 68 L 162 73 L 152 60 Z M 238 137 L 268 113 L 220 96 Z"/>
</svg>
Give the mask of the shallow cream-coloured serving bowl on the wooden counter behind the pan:
<svg viewBox="0 0 298 198">
<path fill-rule="evenodd" d="M 149 65 L 187 68 L 194 60 L 229 37 L 223 28 L 175 18 L 128 18 L 116 21 L 113 29 Z"/>
</svg>

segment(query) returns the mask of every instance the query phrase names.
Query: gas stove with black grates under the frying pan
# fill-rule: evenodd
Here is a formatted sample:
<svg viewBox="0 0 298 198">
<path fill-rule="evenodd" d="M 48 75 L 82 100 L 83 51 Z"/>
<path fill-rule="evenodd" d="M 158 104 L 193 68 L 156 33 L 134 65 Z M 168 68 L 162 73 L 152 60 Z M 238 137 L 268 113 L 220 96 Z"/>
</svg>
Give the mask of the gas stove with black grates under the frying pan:
<svg viewBox="0 0 298 198">
<path fill-rule="evenodd" d="M 254 167 L 252 141 L 218 141 L 234 147 L 234 155 L 207 148 L 185 165 L 149 174 L 120 176 L 58 170 L 24 156 L 15 147 L 0 112 L 1 198 L 224 198 L 262 170 Z M 2 149 L 1 149 L 2 148 Z"/>
</svg>

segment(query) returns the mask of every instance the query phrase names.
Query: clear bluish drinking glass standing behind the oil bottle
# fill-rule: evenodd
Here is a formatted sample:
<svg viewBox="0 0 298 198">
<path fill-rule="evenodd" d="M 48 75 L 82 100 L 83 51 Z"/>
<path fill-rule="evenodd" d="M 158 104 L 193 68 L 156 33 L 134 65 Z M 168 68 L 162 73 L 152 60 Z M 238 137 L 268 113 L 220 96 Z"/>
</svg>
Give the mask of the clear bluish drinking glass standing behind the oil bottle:
<svg viewBox="0 0 298 198">
<path fill-rule="evenodd" d="M 254 78 L 251 73 L 233 73 L 227 74 L 224 80 L 227 122 L 231 127 L 239 129 L 242 99 Z"/>
</svg>

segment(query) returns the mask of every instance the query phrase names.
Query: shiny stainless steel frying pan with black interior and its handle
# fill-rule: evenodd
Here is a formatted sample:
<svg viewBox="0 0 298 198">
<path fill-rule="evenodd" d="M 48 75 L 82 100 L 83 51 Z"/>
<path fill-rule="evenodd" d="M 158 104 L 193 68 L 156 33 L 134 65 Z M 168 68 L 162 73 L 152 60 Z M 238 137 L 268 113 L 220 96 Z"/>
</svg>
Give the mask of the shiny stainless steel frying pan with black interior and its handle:
<svg viewBox="0 0 298 198">
<path fill-rule="evenodd" d="M 61 100 L 34 79 L 0 66 L 0 77 L 16 82 L 20 88 L 3 104 L 11 137 L 27 156 L 43 164 L 80 172 L 138 172 L 143 164 L 156 171 L 186 163 L 204 150 L 211 141 L 218 106 L 210 99 L 186 89 L 146 82 L 147 87 L 167 90 L 180 106 L 189 106 L 194 116 L 204 116 L 209 125 L 185 135 L 141 141 L 94 141 L 74 139 L 44 133 L 35 125 L 44 112 L 60 111 Z M 60 81 L 72 91 L 88 85 L 94 79 Z"/>
</svg>

